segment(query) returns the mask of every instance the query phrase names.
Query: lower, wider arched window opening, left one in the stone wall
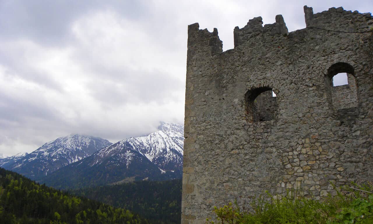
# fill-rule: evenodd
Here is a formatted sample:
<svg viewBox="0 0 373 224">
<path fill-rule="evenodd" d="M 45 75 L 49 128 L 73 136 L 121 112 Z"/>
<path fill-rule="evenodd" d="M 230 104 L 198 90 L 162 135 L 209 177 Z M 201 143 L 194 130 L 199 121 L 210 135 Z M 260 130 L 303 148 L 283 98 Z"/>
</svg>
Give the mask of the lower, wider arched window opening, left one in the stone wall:
<svg viewBox="0 0 373 224">
<path fill-rule="evenodd" d="M 246 119 L 248 122 L 270 121 L 275 119 L 278 108 L 276 93 L 270 87 L 248 90 L 245 94 Z"/>
</svg>

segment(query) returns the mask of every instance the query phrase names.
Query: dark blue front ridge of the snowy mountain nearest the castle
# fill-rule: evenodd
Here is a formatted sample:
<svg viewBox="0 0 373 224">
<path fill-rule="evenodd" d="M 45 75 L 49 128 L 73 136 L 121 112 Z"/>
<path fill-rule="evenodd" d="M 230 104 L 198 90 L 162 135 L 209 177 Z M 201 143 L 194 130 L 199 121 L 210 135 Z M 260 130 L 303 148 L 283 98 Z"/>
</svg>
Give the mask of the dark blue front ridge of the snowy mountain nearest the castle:
<svg viewBox="0 0 373 224">
<path fill-rule="evenodd" d="M 131 182 L 160 176 L 161 170 L 143 154 L 121 142 L 62 167 L 41 182 L 59 189 Z"/>
</svg>

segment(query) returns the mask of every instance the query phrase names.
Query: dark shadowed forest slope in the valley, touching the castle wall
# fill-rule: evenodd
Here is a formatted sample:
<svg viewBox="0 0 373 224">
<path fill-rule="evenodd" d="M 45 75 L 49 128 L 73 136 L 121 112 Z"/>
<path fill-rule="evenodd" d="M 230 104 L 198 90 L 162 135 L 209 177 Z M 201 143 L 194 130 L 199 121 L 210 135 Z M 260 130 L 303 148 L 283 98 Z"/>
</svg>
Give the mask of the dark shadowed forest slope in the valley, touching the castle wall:
<svg viewBox="0 0 373 224">
<path fill-rule="evenodd" d="M 141 214 L 151 223 L 180 223 L 182 180 L 140 181 L 72 191 Z"/>
</svg>

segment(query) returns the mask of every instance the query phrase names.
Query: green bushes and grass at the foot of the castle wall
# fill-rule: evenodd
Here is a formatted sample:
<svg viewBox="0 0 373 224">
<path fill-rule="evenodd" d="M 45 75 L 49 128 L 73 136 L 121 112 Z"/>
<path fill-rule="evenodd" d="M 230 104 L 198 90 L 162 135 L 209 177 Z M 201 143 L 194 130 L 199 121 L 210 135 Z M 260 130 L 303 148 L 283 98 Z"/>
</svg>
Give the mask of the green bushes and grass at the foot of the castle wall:
<svg viewBox="0 0 373 224">
<path fill-rule="evenodd" d="M 372 186 L 372 185 L 370 185 Z M 217 223 L 373 223 L 373 193 L 367 185 L 358 190 L 345 188 L 322 200 L 308 199 L 296 190 L 281 198 L 264 193 L 253 199 L 250 211 L 241 209 L 237 201 L 221 208 L 214 207 Z M 363 190 L 363 191 L 362 191 Z M 365 191 L 365 192 L 364 192 Z M 207 219 L 206 223 L 214 221 Z"/>
</svg>

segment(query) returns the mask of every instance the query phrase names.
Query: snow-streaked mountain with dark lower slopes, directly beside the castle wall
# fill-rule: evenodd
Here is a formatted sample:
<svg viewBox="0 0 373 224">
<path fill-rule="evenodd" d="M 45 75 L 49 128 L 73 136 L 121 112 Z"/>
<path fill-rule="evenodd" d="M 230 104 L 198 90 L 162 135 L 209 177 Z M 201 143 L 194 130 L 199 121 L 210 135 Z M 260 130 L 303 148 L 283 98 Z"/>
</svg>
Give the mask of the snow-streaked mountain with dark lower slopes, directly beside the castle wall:
<svg viewBox="0 0 373 224">
<path fill-rule="evenodd" d="M 182 177 L 184 127 L 161 122 L 159 131 L 121 140 L 43 178 L 63 189 Z M 82 186 L 80 186 L 82 185 Z"/>
</svg>

